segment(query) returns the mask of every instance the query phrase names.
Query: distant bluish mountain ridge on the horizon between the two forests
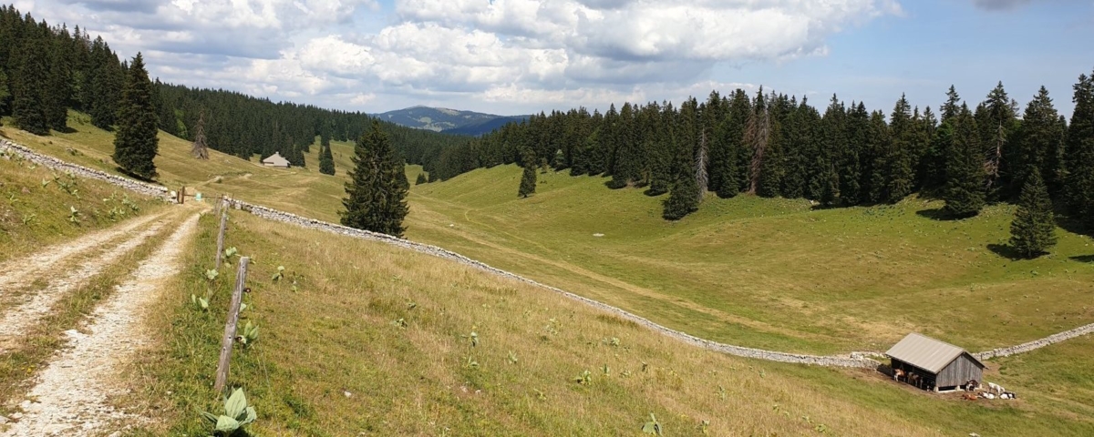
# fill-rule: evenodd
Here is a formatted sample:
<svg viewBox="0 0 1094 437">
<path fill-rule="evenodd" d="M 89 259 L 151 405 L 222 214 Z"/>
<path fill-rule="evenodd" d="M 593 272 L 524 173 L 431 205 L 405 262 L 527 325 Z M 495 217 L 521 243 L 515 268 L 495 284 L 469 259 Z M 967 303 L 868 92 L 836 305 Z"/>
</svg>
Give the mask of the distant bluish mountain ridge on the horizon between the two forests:
<svg viewBox="0 0 1094 437">
<path fill-rule="evenodd" d="M 374 114 L 374 116 L 381 120 L 409 128 L 473 137 L 490 132 L 508 122 L 519 122 L 528 118 L 527 116 L 507 117 L 429 106 L 411 106 L 405 109 Z"/>
</svg>

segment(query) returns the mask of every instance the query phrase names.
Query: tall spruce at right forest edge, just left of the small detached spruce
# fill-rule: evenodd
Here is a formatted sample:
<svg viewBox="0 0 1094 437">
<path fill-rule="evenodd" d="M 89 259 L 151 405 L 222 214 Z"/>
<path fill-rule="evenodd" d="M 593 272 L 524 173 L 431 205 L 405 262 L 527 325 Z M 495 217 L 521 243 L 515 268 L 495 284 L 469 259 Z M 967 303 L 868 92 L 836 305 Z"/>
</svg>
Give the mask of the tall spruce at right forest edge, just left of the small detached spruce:
<svg viewBox="0 0 1094 437">
<path fill-rule="evenodd" d="M 946 152 L 945 213 L 952 217 L 969 217 L 984 208 L 984 155 L 976 130 L 976 120 L 963 105 L 961 113 L 943 122 L 943 130 L 953 130 L 953 141 Z"/>
</svg>

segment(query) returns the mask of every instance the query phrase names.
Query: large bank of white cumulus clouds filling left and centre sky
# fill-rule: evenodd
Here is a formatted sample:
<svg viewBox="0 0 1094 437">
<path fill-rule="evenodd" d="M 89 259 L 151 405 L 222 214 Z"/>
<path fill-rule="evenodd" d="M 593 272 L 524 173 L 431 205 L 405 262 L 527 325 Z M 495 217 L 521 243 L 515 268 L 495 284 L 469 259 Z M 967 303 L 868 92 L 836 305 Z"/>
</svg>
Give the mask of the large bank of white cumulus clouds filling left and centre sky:
<svg viewBox="0 0 1094 437">
<path fill-rule="evenodd" d="M 37 0 L 165 81 L 348 109 L 673 98 L 719 64 L 824 56 L 895 0 Z M 160 61 L 159 63 L 156 61 Z M 707 91 L 699 93 L 705 95 Z M 482 106 L 478 107 L 482 109 Z"/>
</svg>

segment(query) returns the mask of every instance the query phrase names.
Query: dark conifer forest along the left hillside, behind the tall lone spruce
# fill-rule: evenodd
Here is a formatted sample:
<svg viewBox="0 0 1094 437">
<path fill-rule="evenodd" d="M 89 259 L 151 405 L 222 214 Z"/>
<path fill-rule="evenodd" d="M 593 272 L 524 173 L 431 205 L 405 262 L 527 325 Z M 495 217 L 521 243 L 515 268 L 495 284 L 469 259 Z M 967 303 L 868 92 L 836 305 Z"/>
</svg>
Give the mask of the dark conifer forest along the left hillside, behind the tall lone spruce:
<svg viewBox="0 0 1094 437">
<path fill-rule="evenodd" d="M 66 25 L 50 26 L 0 5 L 0 116 L 36 134 L 69 130 L 68 109 L 86 113 L 91 123 L 113 130 L 128 69 L 101 37 Z M 356 140 L 371 126 L 362 113 L 310 105 L 274 103 L 224 90 L 164 84 L 153 90 L 159 127 L 193 140 L 205 118 L 209 147 L 249 158 L 280 152 L 294 165 L 304 164 L 315 138 Z M 400 157 L 411 164 L 440 158 L 441 151 L 466 137 L 383 123 Z"/>
</svg>

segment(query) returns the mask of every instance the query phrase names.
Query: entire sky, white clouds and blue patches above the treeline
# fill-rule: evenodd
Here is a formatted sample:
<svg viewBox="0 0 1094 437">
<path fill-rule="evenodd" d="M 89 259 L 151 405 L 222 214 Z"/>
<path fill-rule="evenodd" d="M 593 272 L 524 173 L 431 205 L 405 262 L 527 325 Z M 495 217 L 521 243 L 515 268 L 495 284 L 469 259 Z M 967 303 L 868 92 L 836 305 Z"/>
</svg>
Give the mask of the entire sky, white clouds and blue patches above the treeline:
<svg viewBox="0 0 1094 437">
<path fill-rule="evenodd" d="M 759 86 L 891 111 L 1002 81 L 1061 114 L 1094 72 L 1089 0 L 16 0 L 153 76 L 327 108 L 519 115 Z"/>
</svg>

